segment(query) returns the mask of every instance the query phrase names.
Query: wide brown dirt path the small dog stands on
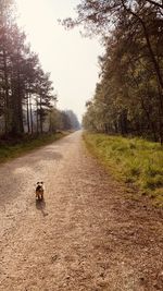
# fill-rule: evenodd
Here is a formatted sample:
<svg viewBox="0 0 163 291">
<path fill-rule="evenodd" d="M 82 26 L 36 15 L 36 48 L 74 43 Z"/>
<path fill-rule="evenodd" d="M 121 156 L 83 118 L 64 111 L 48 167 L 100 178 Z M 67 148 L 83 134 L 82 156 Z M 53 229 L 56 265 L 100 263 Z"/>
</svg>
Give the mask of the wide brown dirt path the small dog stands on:
<svg viewBox="0 0 163 291">
<path fill-rule="evenodd" d="M 125 199 L 80 132 L 2 166 L 0 189 L 0 291 L 163 290 L 162 211 Z"/>
</svg>

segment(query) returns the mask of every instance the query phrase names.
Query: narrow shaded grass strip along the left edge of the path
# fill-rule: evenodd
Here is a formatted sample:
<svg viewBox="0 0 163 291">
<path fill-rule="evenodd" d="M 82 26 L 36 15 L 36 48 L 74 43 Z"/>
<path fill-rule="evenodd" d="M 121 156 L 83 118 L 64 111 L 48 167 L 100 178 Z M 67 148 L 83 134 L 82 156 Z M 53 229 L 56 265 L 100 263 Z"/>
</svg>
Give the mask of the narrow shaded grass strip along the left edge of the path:
<svg viewBox="0 0 163 291">
<path fill-rule="evenodd" d="M 67 135 L 66 132 L 60 132 L 55 134 L 41 134 L 35 136 L 24 135 L 18 140 L 0 141 L 0 163 L 53 143 L 65 135 Z"/>
</svg>

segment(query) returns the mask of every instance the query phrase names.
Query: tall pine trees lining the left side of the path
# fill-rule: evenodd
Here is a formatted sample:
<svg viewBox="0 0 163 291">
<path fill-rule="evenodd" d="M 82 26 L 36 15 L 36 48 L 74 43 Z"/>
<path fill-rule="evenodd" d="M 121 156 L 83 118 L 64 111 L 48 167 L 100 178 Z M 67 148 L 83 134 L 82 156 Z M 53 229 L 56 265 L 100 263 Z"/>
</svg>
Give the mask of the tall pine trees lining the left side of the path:
<svg viewBox="0 0 163 291">
<path fill-rule="evenodd" d="M 13 4 L 0 0 L 0 135 L 76 129 L 72 111 L 57 109 L 50 74 L 18 28 Z"/>
</svg>

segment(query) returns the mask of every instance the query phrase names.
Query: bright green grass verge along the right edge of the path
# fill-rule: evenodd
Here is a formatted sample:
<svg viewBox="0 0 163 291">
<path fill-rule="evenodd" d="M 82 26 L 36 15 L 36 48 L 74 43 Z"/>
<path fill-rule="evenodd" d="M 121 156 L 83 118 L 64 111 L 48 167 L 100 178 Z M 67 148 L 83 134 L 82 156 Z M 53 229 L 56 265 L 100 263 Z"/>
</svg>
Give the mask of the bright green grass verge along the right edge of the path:
<svg viewBox="0 0 163 291">
<path fill-rule="evenodd" d="M 163 205 L 163 147 L 142 138 L 84 133 L 88 149 L 115 178 Z"/>
</svg>

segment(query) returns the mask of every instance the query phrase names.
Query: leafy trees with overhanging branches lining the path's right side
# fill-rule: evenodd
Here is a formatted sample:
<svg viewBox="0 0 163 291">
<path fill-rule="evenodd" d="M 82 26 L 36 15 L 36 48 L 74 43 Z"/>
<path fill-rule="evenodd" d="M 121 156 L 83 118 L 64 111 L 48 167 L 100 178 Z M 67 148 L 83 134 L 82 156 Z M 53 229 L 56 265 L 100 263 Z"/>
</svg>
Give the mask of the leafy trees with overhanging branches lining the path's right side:
<svg viewBox="0 0 163 291">
<path fill-rule="evenodd" d="M 105 47 L 84 126 L 163 143 L 163 2 L 85 0 L 77 10 L 66 24 L 84 23 Z"/>
</svg>

